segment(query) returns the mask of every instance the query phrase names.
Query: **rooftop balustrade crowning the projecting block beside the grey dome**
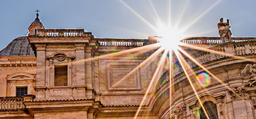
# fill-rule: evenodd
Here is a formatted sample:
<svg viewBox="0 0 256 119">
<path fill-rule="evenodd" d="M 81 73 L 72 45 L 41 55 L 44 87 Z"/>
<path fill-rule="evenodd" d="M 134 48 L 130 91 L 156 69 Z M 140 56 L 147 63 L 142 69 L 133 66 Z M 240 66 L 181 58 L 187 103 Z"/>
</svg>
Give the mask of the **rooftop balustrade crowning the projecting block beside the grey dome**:
<svg viewBox="0 0 256 119">
<path fill-rule="evenodd" d="M 38 29 L 37 32 L 37 36 L 45 37 L 75 37 L 91 35 L 91 32 L 84 32 L 83 29 Z"/>
</svg>

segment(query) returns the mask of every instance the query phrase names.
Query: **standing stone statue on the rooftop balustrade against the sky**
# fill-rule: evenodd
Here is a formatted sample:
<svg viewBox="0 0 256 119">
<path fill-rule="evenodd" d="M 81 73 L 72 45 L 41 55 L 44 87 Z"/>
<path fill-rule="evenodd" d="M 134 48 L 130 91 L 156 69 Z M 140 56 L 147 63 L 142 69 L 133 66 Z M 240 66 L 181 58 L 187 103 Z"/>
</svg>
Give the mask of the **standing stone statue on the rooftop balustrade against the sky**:
<svg viewBox="0 0 256 119">
<path fill-rule="evenodd" d="M 220 18 L 220 23 L 218 23 L 218 30 L 220 34 L 220 40 L 222 43 L 231 42 L 231 31 L 229 30 L 229 20 L 227 19 L 227 23 L 223 23 L 223 18 Z"/>
</svg>

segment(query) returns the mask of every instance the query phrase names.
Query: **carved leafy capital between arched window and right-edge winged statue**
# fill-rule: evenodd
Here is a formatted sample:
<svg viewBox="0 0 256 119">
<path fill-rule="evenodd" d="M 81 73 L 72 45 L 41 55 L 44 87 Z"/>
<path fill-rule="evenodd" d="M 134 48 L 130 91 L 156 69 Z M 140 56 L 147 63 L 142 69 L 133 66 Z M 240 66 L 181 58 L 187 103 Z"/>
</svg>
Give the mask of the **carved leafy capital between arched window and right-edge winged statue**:
<svg viewBox="0 0 256 119">
<path fill-rule="evenodd" d="M 231 95 L 231 99 L 239 99 L 244 98 L 245 88 L 237 86 L 235 87 L 235 90 L 228 89 L 229 94 Z"/>
</svg>

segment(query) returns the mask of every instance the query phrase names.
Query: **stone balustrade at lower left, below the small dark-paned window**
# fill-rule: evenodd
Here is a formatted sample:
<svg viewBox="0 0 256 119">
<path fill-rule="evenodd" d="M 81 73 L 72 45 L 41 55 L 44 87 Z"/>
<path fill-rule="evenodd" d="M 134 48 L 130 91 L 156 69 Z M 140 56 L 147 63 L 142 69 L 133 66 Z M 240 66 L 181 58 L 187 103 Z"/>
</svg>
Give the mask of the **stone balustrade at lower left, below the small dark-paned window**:
<svg viewBox="0 0 256 119">
<path fill-rule="evenodd" d="M 23 101 L 23 97 L 2 97 L 0 98 L 0 110 L 25 108 Z"/>
</svg>

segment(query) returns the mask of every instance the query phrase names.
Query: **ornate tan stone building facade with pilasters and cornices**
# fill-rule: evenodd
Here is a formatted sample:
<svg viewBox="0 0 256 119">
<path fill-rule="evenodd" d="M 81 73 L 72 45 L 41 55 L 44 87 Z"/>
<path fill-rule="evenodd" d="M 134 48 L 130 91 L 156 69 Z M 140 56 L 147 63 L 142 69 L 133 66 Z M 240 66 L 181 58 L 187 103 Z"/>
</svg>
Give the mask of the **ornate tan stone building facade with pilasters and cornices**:
<svg viewBox="0 0 256 119">
<path fill-rule="evenodd" d="M 94 38 L 83 29 L 45 29 L 38 17 L 28 29 L 28 36 L 16 38 L 0 51 L 0 118 L 134 118 L 159 58 L 122 78 L 157 50 L 142 47 L 157 43 L 155 37 Z M 212 73 L 184 58 L 187 68 L 193 69 L 189 76 L 208 116 L 255 119 L 256 38 L 231 37 L 224 43 L 220 37 L 193 37 L 182 42 L 217 51 L 184 47 Z M 171 89 L 169 70 L 164 69 L 157 74 L 137 119 L 205 118 L 179 61 L 174 59 L 172 64 Z M 247 66 L 250 70 L 241 73 Z M 200 74 L 209 78 L 206 85 L 198 81 Z"/>
</svg>

